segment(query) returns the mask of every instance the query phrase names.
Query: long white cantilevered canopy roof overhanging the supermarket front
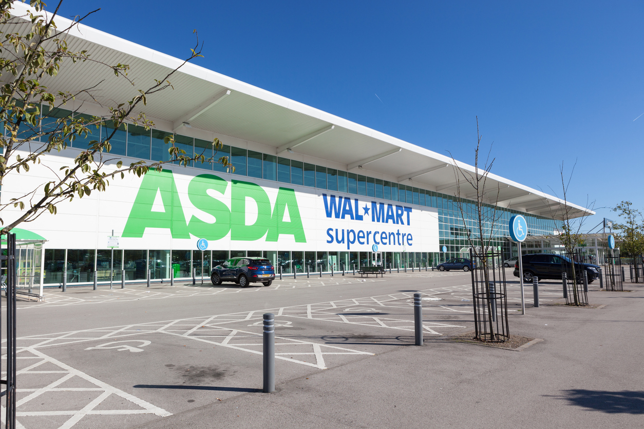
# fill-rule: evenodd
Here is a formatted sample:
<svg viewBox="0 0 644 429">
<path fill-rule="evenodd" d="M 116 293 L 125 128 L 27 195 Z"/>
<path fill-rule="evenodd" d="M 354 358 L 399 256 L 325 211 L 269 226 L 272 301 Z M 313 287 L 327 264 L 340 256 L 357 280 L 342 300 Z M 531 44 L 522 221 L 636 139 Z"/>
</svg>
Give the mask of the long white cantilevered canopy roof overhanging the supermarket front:
<svg viewBox="0 0 644 429">
<path fill-rule="evenodd" d="M 27 6 L 17 3 L 14 10 L 15 15 L 24 15 Z M 71 23 L 62 17 L 55 21 L 59 29 Z M 14 24 L 12 31 L 27 31 L 28 25 Z M 74 92 L 102 80 L 93 96 L 104 106 L 133 98 L 138 89 L 147 89 L 155 78 L 165 77 L 182 64 L 182 60 L 84 25 L 73 28 L 66 39 L 70 50 L 87 50 L 94 60 L 129 64 L 128 77 L 135 86 L 95 62 L 67 62 L 57 77 L 43 82 L 50 90 Z M 194 64 L 182 66 L 171 82 L 174 90 L 149 96 L 144 111 L 155 122 L 169 123 L 172 131 L 181 132 L 189 125 L 274 147 L 278 155 L 290 150 L 346 165 L 348 171 L 363 169 L 365 175 L 368 173 L 364 170 L 380 172 L 400 183 L 411 179 L 415 186 L 475 199 L 476 191 L 462 175 L 457 178 L 455 166 L 470 173 L 475 168 L 448 156 Z M 95 103 L 86 94 L 77 98 Z M 594 214 L 495 174 L 489 174 L 486 190 L 487 203 L 495 203 L 498 196 L 499 206 L 535 215 L 562 219 L 565 211 L 571 217 Z"/>
</svg>

